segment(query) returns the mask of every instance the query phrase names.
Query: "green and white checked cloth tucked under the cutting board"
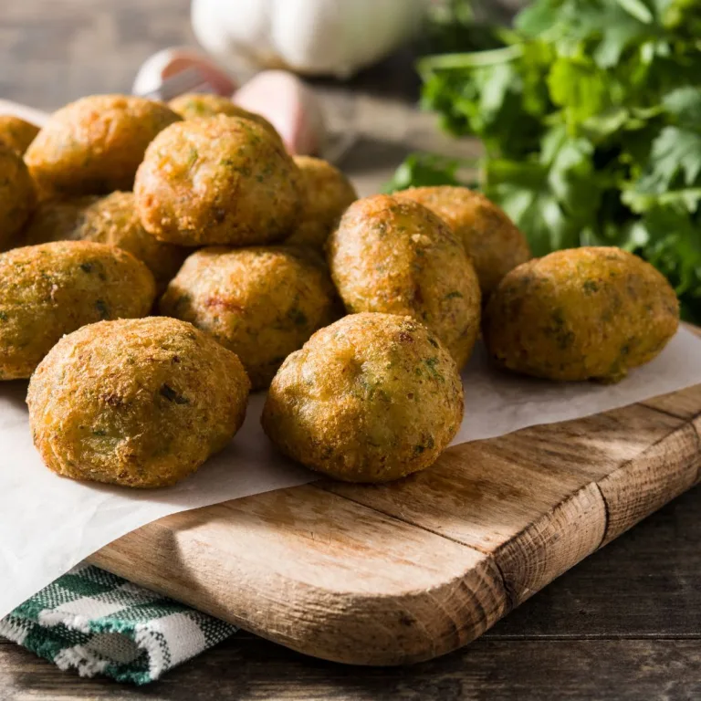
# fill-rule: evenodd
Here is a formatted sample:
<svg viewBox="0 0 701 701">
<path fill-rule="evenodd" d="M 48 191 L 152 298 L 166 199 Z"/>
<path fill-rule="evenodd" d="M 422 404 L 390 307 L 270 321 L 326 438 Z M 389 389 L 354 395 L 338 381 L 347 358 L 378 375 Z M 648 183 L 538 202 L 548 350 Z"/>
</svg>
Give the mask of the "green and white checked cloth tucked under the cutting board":
<svg viewBox="0 0 701 701">
<path fill-rule="evenodd" d="M 147 684 L 235 627 L 78 565 L 0 621 L 0 635 L 81 676 Z"/>
</svg>

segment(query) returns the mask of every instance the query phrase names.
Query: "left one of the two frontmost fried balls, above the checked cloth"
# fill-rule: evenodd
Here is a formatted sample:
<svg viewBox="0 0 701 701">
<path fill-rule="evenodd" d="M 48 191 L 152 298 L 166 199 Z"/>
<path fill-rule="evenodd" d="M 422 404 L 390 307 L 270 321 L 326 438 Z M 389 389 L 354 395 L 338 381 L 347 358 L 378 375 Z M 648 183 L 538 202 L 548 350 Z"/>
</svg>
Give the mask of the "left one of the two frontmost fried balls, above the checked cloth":
<svg viewBox="0 0 701 701">
<path fill-rule="evenodd" d="M 72 479 L 166 487 L 244 423 L 235 354 L 177 319 L 90 324 L 58 341 L 29 382 L 34 444 Z"/>
</svg>

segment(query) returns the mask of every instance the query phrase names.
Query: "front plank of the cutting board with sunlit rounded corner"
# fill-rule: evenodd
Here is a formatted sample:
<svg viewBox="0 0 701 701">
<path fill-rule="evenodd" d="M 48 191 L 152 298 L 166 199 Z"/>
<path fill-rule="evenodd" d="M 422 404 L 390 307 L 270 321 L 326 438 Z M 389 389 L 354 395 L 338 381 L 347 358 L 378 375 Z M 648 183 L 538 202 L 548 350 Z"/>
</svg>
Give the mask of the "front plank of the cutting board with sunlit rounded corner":
<svg viewBox="0 0 701 701">
<path fill-rule="evenodd" d="M 506 612 L 501 578 L 485 554 L 316 487 L 165 518 L 91 560 L 340 662 L 433 657 Z"/>
</svg>

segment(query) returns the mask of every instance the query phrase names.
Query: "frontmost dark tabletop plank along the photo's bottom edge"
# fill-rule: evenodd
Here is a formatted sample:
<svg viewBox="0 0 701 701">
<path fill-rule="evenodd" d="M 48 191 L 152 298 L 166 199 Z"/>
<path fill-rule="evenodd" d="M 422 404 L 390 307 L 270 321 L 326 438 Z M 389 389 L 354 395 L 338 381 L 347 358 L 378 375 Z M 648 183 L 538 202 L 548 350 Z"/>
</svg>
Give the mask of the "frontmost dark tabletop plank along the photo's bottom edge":
<svg viewBox="0 0 701 701">
<path fill-rule="evenodd" d="M 12 701 L 695 701 L 697 640 L 491 640 L 405 667 L 324 663 L 239 637 L 145 689 L 78 679 L 0 643 L 0 694 Z M 12 681 L 10 681 L 12 680 Z M 8 683 L 9 682 L 9 683 Z"/>
</svg>

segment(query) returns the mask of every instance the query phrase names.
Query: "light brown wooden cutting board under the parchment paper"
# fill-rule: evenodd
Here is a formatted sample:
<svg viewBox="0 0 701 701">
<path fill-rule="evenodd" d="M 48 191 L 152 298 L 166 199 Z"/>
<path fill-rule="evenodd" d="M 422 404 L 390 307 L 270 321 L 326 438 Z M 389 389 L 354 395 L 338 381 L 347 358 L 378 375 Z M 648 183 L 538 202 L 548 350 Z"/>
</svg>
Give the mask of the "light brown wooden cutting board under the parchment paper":
<svg viewBox="0 0 701 701">
<path fill-rule="evenodd" d="M 701 385 L 456 445 L 380 487 L 322 480 L 152 523 L 91 561 L 302 653 L 460 647 L 701 472 Z"/>
</svg>

